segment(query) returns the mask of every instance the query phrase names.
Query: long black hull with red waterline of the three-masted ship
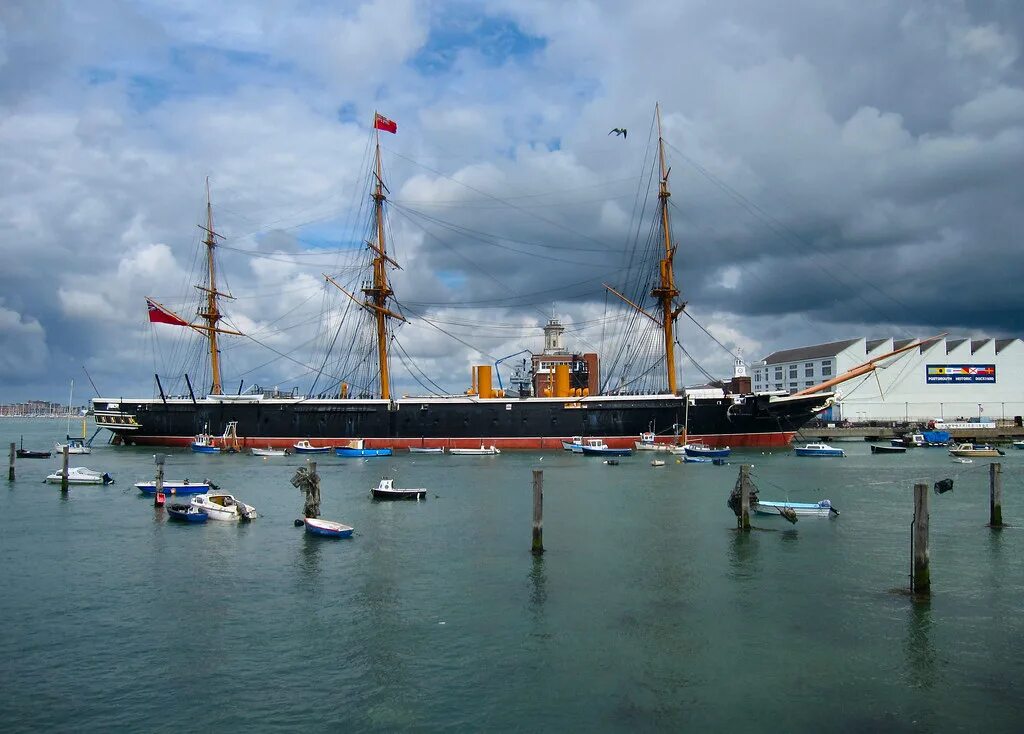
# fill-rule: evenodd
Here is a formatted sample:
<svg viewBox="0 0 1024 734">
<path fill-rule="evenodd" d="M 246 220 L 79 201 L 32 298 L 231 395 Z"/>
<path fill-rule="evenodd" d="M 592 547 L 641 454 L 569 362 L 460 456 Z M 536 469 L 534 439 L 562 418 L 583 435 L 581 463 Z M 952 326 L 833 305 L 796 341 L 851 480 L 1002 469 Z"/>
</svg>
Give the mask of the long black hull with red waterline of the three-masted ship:
<svg viewBox="0 0 1024 734">
<path fill-rule="evenodd" d="M 699 397 L 691 398 L 688 409 L 686 399 L 676 395 L 92 400 L 96 425 L 109 428 L 115 441 L 135 445 L 183 446 L 197 434 L 218 434 L 234 422 L 240 447 L 290 447 L 302 439 L 339 445 L 364 439 L 367 447 L 485 444 L 512 449 L 561 449 L 561 441 L 571 436 L 603 438 L 609 446 L 625 448 L 644 432 L 654 432 L 656 440 L 667 443 L 685 433 L 709 445 L 784 446 L 828 404 L 829 395 Z"/>
</svg>

